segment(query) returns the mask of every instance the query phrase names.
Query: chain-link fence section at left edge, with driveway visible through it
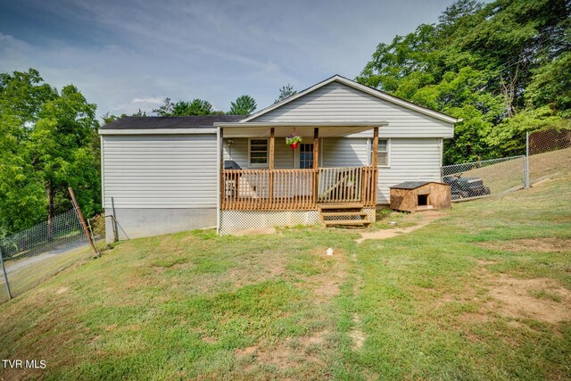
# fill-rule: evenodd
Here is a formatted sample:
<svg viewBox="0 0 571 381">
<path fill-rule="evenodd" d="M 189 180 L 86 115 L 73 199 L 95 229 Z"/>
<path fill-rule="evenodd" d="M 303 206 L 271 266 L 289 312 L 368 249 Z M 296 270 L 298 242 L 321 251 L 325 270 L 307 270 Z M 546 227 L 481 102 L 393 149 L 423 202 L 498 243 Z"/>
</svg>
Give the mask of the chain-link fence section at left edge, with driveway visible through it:
<svg viewBox="0 0 571 381">
<path fill-rule="evenodd" d="M 75 209 L 0 239 L 0 302 L 22 294 L 75 261 L 89 258 L 90 253 Z"/>
</svg>

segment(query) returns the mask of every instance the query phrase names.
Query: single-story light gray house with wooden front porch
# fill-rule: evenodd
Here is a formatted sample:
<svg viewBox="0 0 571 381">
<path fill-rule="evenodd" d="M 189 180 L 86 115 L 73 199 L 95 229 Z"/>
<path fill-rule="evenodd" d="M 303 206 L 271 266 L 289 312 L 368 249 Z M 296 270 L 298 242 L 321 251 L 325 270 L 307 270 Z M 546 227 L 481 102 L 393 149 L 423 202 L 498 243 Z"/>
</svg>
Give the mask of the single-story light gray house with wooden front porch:
<svg viewBox="0 0 571 381">
<path fill-rule="evenodd" d="M 103 207 L 128 237 L 372 221 L 390 186 L 440 181 L 458 121 L 338 75 L 245 117 L 121 118 L 99 129 Z"/>
</svg>

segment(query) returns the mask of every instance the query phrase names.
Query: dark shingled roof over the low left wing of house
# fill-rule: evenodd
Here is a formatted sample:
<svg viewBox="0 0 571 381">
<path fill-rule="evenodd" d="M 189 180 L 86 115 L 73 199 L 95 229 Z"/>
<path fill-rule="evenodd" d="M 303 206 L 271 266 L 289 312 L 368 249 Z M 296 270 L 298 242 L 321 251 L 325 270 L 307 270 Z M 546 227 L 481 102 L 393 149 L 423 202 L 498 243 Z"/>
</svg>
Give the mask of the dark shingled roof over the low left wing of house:
<svg viewBox="0 0 571 381">
<path fill-rule="evenodd" d="M 245 115 L 125 116 L 101 129 L 212 128 L 216 122 L 233 122 Z"/>
</svg>

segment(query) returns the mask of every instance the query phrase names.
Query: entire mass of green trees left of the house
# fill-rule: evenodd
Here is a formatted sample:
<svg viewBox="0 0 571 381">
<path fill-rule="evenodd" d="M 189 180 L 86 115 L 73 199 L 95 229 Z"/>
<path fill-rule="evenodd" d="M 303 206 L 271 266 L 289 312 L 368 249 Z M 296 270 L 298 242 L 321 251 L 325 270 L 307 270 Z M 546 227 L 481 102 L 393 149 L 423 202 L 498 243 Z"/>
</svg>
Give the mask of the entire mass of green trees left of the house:
<svg viewBox="0 0 571 381">
<path fill-rule="evenodd" d="M 37 70 L 0 74 L 0 235 L 71 207 L 100 210 L 95 104 L 76 87 L 58 92 Z"/>
</svg>

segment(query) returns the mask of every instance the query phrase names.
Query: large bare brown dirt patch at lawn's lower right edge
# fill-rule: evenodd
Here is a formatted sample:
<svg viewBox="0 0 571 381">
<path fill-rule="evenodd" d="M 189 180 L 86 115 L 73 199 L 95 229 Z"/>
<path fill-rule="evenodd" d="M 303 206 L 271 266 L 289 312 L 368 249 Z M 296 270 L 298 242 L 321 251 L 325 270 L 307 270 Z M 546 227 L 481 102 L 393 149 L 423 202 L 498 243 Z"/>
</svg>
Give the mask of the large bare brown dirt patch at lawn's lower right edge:
<svg viewBox="0 0 571 381">
<path fill-rule="evenodd" d="M 534 296 L 538 290 L 558 295 L 560 302 Z M 490 295 L 500 302 L 496 311 L 509 318 L 550 324 L 571 320 L 571 292 L 553 279 L 517 279 L 501 274 L 493 280 Z"/>
</svg>

